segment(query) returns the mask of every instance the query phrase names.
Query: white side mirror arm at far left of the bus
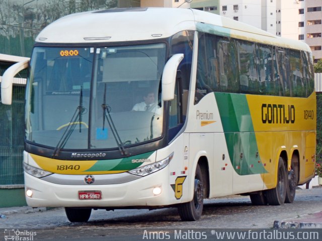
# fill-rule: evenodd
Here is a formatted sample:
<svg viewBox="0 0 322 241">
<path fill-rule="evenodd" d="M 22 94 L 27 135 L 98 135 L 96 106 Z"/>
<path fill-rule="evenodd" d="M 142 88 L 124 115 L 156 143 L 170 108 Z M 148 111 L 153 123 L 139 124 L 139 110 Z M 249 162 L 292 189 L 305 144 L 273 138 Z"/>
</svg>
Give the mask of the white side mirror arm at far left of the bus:
<svg viewBox="0 0 322 241">
<path fill-rule="evenodd" d="M 12 85 L 14 77 L 21 70 L 28 68 L 29 60 L 18 62 L 10 66 L 2 76 L 1 80 L 1 101 L 3 104 L 12 103 Z"/>
</svg>

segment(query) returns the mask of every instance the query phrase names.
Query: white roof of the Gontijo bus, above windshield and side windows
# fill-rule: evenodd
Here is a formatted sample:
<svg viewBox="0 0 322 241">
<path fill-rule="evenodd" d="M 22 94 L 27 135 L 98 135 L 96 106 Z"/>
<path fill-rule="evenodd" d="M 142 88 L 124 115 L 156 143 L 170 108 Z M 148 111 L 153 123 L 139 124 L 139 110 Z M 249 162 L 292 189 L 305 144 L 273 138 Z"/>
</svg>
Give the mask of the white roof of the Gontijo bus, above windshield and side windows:
<svg viewBox="0 0 322 241">
<path fill-rule="evenodd" d="M 194 9 L 127 8 L 76 13 L 44 28 L 39 43 L 104 43 L 170 37 L 198 30 L 281 47 L 310 51 L 300 41 L 280 38 L 251 25 Z"/>
</svg>

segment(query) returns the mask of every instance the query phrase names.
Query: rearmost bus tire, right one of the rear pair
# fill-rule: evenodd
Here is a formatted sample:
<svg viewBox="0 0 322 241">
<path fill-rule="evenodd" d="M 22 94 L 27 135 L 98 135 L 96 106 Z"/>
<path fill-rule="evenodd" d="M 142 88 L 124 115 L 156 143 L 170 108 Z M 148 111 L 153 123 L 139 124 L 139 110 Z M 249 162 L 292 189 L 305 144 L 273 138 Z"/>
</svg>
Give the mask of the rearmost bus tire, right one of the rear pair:
<svg viewBox="0 0 322 241">
<path fill-rule="evenodd" d="M 291 170 L 288 172 L 285 203 L 293 203 L 298 182 L 298 156 L 293 155 Z"/>
</svg>

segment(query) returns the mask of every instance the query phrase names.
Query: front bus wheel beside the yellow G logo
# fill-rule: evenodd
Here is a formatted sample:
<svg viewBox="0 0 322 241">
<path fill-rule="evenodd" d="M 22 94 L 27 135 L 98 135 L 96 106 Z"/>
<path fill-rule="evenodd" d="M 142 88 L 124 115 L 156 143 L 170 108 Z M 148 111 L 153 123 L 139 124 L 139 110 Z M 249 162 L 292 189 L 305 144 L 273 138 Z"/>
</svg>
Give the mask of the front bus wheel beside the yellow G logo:
<svg viewBox="0 0 322 241">
<path fill-rule="evenodd" d="M 204 198 L 203 183 L 202 172 L 198 164 L 195 174 L 193 199 L 190 202 L 181 203 L 178 206 L 182 221 L 196 221 L 201 217 Z"/>
</svg>

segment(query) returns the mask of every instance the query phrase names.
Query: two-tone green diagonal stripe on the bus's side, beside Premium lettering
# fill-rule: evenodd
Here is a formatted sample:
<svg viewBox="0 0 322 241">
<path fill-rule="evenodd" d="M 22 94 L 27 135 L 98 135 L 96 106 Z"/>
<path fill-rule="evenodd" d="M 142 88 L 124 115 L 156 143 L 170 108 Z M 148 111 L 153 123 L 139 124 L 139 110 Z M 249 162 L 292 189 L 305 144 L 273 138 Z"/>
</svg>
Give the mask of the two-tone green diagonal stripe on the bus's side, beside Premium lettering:
<svg viewBox="0 0 322 241">
<path fill-rule="evenodd" d="M 215 92 L 231 164 L 239 175 L 266 173 L 245 94 Z"/>
</svg>

